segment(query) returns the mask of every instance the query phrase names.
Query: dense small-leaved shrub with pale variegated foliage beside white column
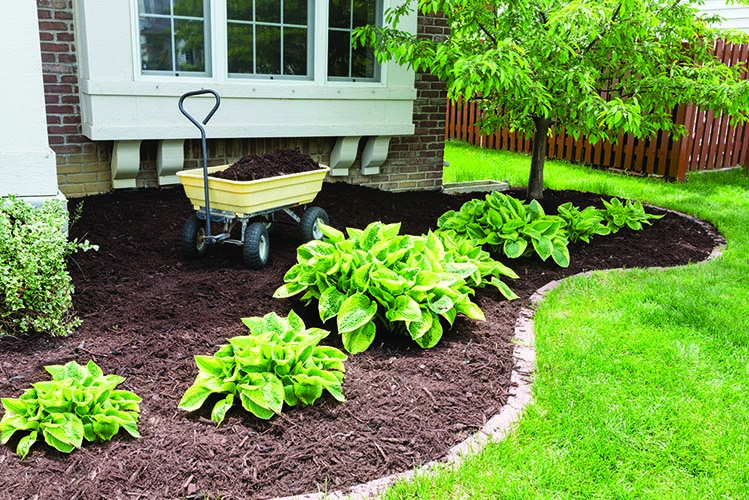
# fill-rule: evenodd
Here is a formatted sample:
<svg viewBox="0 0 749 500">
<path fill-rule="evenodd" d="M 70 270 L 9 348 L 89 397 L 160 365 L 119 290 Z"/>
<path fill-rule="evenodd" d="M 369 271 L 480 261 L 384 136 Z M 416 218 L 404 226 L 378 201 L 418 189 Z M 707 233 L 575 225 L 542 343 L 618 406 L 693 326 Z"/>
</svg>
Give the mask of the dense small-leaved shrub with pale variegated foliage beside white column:
<svg viewBox="0 0 749 500">
<path fill-rule="evenodd" d="M 67 335 L 80 324 L 70 312 L 66 256 L 97 247 L 69 241 L 66 219 L 59 200 L 34 208 L 14 196 L 0 199 L 0 335 Z"/>
</svg>

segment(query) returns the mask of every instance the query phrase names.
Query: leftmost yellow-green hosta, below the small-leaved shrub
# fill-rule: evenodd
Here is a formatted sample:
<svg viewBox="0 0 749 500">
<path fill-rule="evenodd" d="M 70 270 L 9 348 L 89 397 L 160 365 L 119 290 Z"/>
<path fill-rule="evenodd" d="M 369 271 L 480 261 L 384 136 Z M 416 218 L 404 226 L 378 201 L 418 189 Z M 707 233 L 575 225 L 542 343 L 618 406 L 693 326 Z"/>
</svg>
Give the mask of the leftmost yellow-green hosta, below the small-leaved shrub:
<svg viewBox="0 0 749 500">
<path fill-rule="evenodd" d="M 23 458 L 40 433 L 47 444 L 63 453 L 80 448 L 84 439 L 108 441 L 120 429 L 140 437 L 141 399 L 116 389 L 124 377 L 104 375 L 93 361 L 86 366 L 71 361 L 45 369 L 51 381 L 32 384 L 18 399 L 2 399 L 5 414 L 0 420 L 0 443 L 6 444 L 17 431 L 30 431 L 16 448 Z"/>
</svg>

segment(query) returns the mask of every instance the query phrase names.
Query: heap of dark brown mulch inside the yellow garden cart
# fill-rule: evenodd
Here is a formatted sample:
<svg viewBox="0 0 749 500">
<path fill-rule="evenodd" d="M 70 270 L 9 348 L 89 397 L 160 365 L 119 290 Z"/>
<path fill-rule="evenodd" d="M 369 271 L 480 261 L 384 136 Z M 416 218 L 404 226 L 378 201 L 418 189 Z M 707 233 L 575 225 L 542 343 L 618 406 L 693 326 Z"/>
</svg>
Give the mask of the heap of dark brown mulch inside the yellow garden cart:
<svg viewBox="0 0 749 500">
<path fill-rule="evenodd" d="M 209 174 L 230 181 L 255 181 L 280 175 L 300 174 L 319 170 L 320 165 L 299 149 L 277 149 L 261 155 L 250 154 L 228 168 Z"/>
</svg>

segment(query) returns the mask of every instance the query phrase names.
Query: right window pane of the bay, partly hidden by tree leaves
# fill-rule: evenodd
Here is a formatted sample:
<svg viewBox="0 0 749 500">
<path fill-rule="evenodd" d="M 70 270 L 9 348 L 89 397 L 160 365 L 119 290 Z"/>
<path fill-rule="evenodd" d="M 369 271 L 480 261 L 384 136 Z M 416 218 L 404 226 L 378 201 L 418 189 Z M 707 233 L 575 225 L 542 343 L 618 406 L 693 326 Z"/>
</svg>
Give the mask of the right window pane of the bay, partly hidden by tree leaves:
<svg viewBox="0 0 749 500">
<path fill-rule="evenodd" d="M 353 48 L 355 28 L 380 24 L 382 0 L 329 0 L 328 79 L 377 81 L 379 65 L 370 47 Z"/>
</svg>

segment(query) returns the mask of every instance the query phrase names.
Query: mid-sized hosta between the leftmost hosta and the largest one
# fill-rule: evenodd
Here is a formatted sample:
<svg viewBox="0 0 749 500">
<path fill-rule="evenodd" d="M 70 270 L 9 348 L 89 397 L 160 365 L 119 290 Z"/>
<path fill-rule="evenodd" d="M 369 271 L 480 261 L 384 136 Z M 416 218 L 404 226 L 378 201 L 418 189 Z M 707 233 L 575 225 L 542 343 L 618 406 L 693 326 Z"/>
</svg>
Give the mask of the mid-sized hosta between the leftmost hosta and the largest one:
<svg viewBox="0 0 749 500">
<path fill-rule="evenodd" d="M 281 413 L 283 404 L 311 405 L 326 390 L 338 401 L 346 355 L 335 347 L 320 346 L 328 332 L 306 328 L 291 311 L 288 318 L 269 313 L 243 318 L 250 335 L 233 337 L 213 356 L 195 356 L 198 375 L 179 402 L 195 411 L 211 394 L 226 394 L 211 412 L 221 425 L 238 399 L 242 407 L 262 419 Z"/>
</svg>

